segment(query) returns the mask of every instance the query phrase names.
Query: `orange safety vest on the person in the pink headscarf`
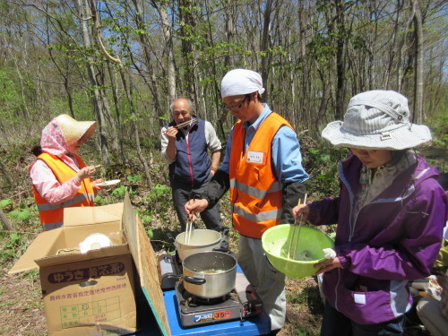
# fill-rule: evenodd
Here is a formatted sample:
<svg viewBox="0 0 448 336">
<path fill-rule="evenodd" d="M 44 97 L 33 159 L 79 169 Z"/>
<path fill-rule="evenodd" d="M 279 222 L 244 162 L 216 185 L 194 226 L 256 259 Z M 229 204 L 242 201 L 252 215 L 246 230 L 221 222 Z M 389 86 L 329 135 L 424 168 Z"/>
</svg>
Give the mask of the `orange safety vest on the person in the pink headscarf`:
<svg viewBox="0 0 448 336">
<path fill-rule="evenodd" d="M 78 155 L 75 155 L 75 158 L 78 160 L 80 168 L 86 167 L 85 163 Z M 60 184 L 63 184 L 65 181 L 68 181 L 76 175 L 76 171 L 65 164 L 64 161 L 57 158 L 56 155 L 45 152 L 40 154 L 38 159 L 43 160 L 47 166 L 51 168 Z M 71 200 L 59 204 L 50 204 L 47 202 L 47 200 L 38 193 L 34 185 L 32 186 L 32 190 L 34 199 L 38 204 L 40 222 L 42 223 L 44 231 L 60 228 L 64 225 L 64 208 L 73 206 L 95 206 L 95 194 L 93 192 L 90 177 L 82 180 L 81 189 L 78 191 L 78 194 L 75 194 Z"/>
</svg>

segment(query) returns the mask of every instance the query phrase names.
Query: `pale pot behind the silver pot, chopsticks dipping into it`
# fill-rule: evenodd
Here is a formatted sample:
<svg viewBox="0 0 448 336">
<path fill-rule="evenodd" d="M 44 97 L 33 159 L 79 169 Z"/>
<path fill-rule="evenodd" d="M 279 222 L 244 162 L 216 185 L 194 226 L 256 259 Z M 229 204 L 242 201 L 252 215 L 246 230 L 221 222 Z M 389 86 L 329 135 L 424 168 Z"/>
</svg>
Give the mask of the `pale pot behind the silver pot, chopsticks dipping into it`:
<svg viewBox="0 0 448 336">
<path fill-rule="evenodd" d="M 220 243 L 220 232 L 210 229 L 194 229 L 188 242 L 185 242 L 185 232 L 181 232 L 177 235 L 174 245 L 180 260 L 183 261 L 188 255 L 220 248 Z"/>
</svg>

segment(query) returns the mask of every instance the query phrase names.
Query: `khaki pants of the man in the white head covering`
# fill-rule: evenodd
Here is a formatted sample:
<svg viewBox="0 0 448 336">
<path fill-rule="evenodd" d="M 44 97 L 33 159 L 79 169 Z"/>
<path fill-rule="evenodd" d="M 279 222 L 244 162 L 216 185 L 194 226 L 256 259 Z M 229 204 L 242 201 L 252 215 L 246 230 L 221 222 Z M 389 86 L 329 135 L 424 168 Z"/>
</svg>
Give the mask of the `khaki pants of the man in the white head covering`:
<svg viewBox="0 0 448 336">
<path fill-rule="evenodd" d="M 271 317 L 271 331 L 281 329 L 286 317 L 285 275 L 274 269 L 264 254 L 262 239 L 239 235 L 239 266 L 263 300 Z"/>
</svg>

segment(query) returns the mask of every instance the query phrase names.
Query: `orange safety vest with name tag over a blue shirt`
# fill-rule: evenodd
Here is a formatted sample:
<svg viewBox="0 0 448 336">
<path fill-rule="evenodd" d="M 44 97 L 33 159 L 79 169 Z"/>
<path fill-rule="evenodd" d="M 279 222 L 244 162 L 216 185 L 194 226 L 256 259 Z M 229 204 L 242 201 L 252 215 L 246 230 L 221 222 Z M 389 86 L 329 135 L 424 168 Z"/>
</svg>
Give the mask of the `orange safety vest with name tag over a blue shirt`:
<svg viewBox="0 0 448 336">
<path fill-rule="evenodd" d="M 247 237 L 261 238 L 268 228 L 280 223 L 283 185 L 274 175 L 271 142 L 288 121 L 272 112 L 260 125 L 247 151 L 246 129 L 241 121 L 233 128 L 230 152 L 230 202 L 233 226 Z"/>
</svg>

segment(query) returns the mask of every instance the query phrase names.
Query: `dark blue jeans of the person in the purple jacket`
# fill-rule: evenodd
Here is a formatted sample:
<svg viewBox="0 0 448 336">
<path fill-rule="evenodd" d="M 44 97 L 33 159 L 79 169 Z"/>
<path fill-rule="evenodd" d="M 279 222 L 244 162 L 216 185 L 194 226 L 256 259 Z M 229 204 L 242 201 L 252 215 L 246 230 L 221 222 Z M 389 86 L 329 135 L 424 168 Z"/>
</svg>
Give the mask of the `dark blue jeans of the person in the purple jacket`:
<svg viewBox="0 0 448 336">
<path fill-rule="evenodd" d="M 321 336 L 389 336 L 404 332 L 404 315 L 391 321 L 360 324 L 334 309 L 326 300 Z"/>
</svg>

